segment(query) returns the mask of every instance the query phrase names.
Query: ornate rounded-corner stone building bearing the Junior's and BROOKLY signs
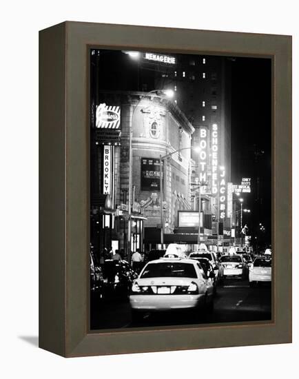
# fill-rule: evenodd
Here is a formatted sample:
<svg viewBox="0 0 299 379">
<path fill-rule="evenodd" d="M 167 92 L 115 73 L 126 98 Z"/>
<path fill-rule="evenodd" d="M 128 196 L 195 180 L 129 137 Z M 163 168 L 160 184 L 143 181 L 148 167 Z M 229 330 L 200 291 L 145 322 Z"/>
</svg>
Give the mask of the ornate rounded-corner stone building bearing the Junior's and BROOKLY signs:
<svg viewBox="0 0 299 379">
<path fill-rule="evenodd" d="M 145 92 L 101 92 L 91 120 L 93 245 L 99 254 L 112 246 L 124 255 L 129 240 L 132 252 L 155 247 L 161 243 L 161 171 L 165 234 L 174 233 L 178 211 L 192 207 L 194 127 L 176 103 Z M 160 156 L 165 157 L 161 167 Z M 101 194 L 111 197 L 112 207 L 101 209 L 99 216 L 96 199 Z M 128 236 L 130 218 L 131 238 Z"/>
</svg>

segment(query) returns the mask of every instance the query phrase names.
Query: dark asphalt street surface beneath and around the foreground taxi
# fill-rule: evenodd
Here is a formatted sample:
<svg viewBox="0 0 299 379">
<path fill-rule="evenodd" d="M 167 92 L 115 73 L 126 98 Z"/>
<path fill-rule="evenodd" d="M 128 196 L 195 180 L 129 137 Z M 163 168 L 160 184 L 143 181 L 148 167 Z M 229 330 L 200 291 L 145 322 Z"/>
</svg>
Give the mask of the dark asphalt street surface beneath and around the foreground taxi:
<svg viewBox="0 0 299 379">
<path fill-rule="evenodd" d="M 271 285 L 249 287 L 248 280 L 226 279 L 217 287 L 212 313 L 197 318 L 183 311 L 163 312 L 145 314 L 133 323 L 129 300 L 119 298 L 92 301 L 90 314 L 90 329 L 271 320 Z"/>
</svg>

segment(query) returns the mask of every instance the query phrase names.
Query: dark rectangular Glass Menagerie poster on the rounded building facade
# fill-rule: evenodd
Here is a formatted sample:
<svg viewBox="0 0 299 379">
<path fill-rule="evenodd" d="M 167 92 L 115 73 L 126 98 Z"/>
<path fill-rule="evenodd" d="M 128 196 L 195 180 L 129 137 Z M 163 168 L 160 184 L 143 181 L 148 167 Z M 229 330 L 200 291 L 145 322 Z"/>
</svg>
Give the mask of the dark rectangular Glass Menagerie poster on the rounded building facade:
<svg viewBox="0 0 299 379">
<path fill-rule="evenodd" d="M 141 158 L 141 191 L 154 189 L 160 191 L 160 160 Z"/>
</svg>

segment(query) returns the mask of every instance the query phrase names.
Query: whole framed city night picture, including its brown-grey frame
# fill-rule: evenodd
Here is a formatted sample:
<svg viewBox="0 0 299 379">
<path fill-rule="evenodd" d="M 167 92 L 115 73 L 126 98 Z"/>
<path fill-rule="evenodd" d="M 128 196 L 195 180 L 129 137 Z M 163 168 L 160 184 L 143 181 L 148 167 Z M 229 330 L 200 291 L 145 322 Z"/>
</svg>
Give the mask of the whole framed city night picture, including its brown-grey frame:
<svg viewBox="0 0 299 379">
<path fill-rule="evenodd" d="M 291 37 L 42 30 L 40 204 L 41 348 L 291 342 Z"/>
</svg>

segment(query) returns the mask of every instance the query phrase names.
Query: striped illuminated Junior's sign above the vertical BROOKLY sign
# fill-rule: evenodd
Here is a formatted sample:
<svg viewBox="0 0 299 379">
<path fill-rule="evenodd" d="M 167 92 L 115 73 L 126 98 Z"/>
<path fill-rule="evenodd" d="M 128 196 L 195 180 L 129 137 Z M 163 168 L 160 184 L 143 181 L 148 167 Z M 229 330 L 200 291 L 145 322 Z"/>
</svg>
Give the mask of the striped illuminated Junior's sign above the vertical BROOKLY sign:
<svg viewBox="0 0 299 379">
<path fill-rule="evenodd" d="M 118 129 L 121 125 L 121 107 L 101 103 L 96 107 L 96 127 Z"/>
</svg>

